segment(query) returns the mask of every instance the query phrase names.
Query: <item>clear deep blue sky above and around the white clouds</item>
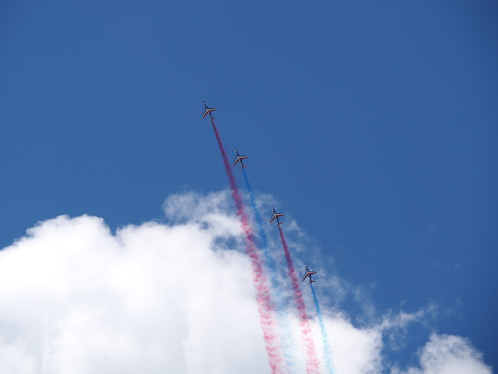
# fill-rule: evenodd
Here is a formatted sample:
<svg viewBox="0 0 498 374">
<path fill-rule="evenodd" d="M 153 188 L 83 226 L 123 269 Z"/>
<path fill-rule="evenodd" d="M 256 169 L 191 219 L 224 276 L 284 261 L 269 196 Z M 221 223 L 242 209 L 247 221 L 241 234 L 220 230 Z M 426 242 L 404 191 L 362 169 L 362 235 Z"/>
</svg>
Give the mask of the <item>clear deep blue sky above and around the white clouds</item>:
<svg viewBox="0 0 498 374">
<path fill-rule="evenodd" d="M 2 3 L 0 245 L 60 214 L 116 230 L 164 219 L 174 193 L 226 188 L 205 100 L 255 193 L 313 238 L 297 258 L 361 290 L 340 305 L 355 323 L 438 306 L 392 362 L 437 331 L 496 365 L 497 15 L 492 1 Z"/>
</svg>

